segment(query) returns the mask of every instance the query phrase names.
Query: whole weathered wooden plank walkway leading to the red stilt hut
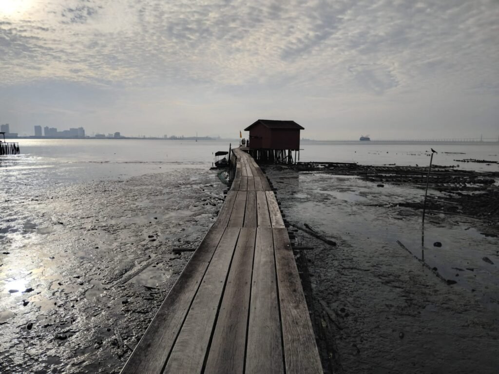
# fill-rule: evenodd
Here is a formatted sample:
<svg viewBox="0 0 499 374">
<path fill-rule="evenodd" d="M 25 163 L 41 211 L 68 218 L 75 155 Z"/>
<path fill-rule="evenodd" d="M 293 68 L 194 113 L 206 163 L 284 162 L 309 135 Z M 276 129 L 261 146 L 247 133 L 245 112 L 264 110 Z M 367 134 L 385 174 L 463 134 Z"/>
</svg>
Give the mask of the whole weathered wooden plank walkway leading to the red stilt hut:
<svg viewBox="0 0 499 374">
<path fill-rule="evenodd" d="M 122 374 L 322 373 L 277 200 L 240 149 L 216 222 Z"/>
</svg>

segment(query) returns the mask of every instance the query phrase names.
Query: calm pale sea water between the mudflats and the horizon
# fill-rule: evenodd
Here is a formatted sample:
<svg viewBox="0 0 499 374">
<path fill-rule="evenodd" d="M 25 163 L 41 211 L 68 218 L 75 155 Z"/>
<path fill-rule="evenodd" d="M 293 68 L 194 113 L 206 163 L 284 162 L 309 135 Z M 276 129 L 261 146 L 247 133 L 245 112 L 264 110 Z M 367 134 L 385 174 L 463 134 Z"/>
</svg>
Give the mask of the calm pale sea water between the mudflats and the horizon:
<svg viewBox="0 0 499 374">
<path fill-rule="evenodd" d="M 0 191 L 23 186 L 34 191 L 60 183 L 209 168 L 215 161 L 214 153 L 229 151 L 230 145 L 238 146 L 237 141 L 19 139 L 21 154 L 0 158 Z M 299 161 L 427 166 L 432 148 L 438 152 L 434 165 L 499 171 L 499 145 L 305 142 Z M 463 161 L 469 159 L 493 163 Z"/>
</svg>

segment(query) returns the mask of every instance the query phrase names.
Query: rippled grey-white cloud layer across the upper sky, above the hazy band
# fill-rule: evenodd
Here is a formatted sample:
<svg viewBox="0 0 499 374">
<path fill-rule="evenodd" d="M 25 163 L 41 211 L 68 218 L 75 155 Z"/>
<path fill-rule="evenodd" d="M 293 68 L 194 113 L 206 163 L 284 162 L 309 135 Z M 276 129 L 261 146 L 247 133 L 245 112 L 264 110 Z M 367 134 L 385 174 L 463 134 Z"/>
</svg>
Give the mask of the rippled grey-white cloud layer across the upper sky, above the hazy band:
<svg viewBox="0 0 499 374">
<path fill-rule="evenodd" d="M 497 97 L 498 19 L 494 0 L 33 0 L 0 15 L 0 88 L 67 82 L 348 105 Z"/>
</svg>

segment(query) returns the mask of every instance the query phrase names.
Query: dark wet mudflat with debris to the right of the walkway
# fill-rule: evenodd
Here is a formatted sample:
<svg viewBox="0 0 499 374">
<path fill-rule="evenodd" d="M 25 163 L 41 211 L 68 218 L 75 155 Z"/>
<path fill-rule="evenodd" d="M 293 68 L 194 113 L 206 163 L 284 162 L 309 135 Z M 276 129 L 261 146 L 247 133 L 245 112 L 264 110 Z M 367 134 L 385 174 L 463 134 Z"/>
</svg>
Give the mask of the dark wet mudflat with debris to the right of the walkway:
<svg viewBox="0 0 499 374">
<path fill-rule="evenodd" d="M 497 373 L 497 174 L 437 168 L 423 229 L 425 168 L 265 169 L 326 373 Z"/>
</svg>

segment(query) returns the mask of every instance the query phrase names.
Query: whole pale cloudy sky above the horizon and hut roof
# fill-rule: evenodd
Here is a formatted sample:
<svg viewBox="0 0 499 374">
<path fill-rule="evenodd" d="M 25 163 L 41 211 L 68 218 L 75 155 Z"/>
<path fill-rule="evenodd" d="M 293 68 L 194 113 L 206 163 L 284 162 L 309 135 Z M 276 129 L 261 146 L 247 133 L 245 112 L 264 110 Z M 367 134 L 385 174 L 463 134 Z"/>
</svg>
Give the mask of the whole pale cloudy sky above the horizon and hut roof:
<svg viewBox="0 0 499 374">
<path fill-rule="evenodd" d="M 499 0 L 0 0 L 0 123 L 499 136 Z"/>
</svg>

